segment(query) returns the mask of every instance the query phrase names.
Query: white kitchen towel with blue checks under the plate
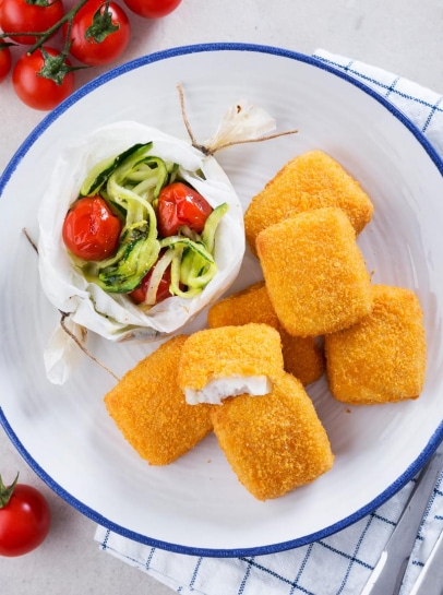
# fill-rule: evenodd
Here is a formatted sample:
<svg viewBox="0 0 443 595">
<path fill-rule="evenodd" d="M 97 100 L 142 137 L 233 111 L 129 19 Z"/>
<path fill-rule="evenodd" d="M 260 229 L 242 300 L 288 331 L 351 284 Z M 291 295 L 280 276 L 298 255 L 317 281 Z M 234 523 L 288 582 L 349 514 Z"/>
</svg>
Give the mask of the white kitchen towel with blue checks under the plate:
<svg viewBox="0 0 443 595">
<path fill-rule="evenodd" d="M 315 52 L 322 62 L 371 86 L 406 114 L 443 156 L 443 97 L 383 70 Z M 410 481 L 375 512 L 309 546 L 268 556 L 200 558 L 144 546 L 98 527 L 103 550 L 147 572 L 177 593 L 190 595 L 358 595 L 405 507 Z M 443 529 L 443 478 L 435 486 L 405 575 L 402 595 L 412 587 Z M 387 594 L 386 594 L 387 595 Z"/>
</svg>

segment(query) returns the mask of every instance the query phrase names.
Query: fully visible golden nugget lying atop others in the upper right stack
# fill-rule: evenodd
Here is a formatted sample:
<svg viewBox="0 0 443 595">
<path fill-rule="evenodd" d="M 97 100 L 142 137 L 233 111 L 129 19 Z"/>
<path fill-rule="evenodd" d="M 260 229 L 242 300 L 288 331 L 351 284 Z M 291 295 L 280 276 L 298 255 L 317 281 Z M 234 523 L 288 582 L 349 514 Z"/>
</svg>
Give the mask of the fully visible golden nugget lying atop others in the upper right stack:
<svg viewBox="0 0 443 595">
<path fill-rule="evenodd" d="M 340 209 L 318 209 L 272 225 L 256 240 L 278 320 L 296 336 L 346 329 L 371 311 L 370 277 Z"/>
</svg>

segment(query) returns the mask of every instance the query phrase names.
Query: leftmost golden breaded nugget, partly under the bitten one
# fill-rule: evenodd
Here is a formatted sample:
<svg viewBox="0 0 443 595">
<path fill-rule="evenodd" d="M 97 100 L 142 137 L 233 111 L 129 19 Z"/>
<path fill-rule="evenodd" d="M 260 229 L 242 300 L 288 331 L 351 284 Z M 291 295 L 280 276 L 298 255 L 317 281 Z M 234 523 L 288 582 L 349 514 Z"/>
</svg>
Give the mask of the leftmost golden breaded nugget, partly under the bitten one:
<svg viewBox="0 0 443 595">
<path fill-rule="evenodd" d="M 106 396 L 109 415 L 152 465 L 168 465 L 212 430 L 208 405 L 188 405 L 177 383 L 185 335 L 164 343 Z"/>
</svg>

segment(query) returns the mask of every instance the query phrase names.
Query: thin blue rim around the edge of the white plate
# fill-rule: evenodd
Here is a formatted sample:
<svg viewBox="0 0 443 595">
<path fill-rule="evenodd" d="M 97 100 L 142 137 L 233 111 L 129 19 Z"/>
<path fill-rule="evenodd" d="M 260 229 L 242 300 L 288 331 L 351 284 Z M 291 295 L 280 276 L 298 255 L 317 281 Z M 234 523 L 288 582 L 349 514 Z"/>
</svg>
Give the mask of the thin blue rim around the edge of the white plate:
<svg viewBox="0 0 443 595">
<path fill-rule="evenodd" d="M 435 167 L 438 168 L 441 176 L 443 177 L 443 160 L 440 158 L 439 154 L 430 144 L 430 142 L 426 139 L 423 133 L 404 114 L 402 114 L 402 111 L 399 111 L 396 107 L 390 104 L 384 97 L 379 95 L 375 91 L 373 91 L 372 88 L 361 83 L 359 80 L 351 78 L 346 72 L 337 70 L 336 68 L 323 62 L 320 59 L 306 56 L 303 53 L 299 53 L 296 51 L 272 47 L 272 46 L 261 46 L 261 45 L 253 45 L 253 44 L 220 43 L 220 44 L 199 44 L 193 46 L 182 46 L 182 47 L 171 48 L 171 49 L 158 51 L 155 53 L 151 53 L 148 56 L 144 56 L 141 58 L 136 58 L 135 60 L 121 64 L 106 72 L 105 74 L 101 74 L 97 79 L 94 79 L 89 83 L 86 83 L 84 86 L 75 91 L 63 103 L 61 103 L 51 112 L 49 112 L 41 120 L 39 124 L 37 124 L 37 127 L 33 130 L 33 132 L 31 132 L 31 134 L 25 139 L 25 141 L 19 147 L 16 153 L 13 155 L 12 159 L 10 160 L 2 176 L 0 177 L 0 198 L 12 174 L 15 171 L 17 165 L 20 164 L 21 159 L 26 155 L 26 153 L 29 151 L 29 148 L 35 143 L 35 141 L 45 132 L 45 130 L 47 130 L 52 124 L 52 122 L 55 122 L 64 111 L 67 111 L 67 109 L 69 109 L 73 104 L 79 102 L 83 96 L 88 95 L 95 88 L 104 85 L 108 81 L 116 79 L 117 76 L 120 76 L 121 74 L 124 74 L 125 72 L 134 70 L 136 68 L 144 67 L 146 64 L 151 64 L 154 62 L 158 62 L 160 60 L 168 60 L 177 56 L 184 56 L 188 53 L 208 52 L 208 51 L 251 51 L 256 53 L 270 53 L 274 56 L 279 56 L 282 58 L 289 58 L 298 62 L 304 62 L 314 68 L 325 70 L 330 72 L 331 74 L 334 74 L 335 76 L 338 76 L 339 79 L 347 81 L 349 84 L 360 88 L 366 94 L 370 95 L 379 104 L 385 107 L 395 118 L 397 118 L 414 134 L 416 140 L 422 145 L 428 156 L 434 163 Z M 89 507 L 86 507 L 80 500 L 77 500 L 76 498 L 71 496 L 68 491 L 65 491 L 57 481 L 55 481 L 50 477 L 50 475 L 48 475 L 45 472 L 45 469 L 43 469 L 39 466 L 39 464 L 33 459 L 33 456 L 27 452 L 27 450 L 21 443 L 19 437 L 15 435 L 14 430 L 10 426 L 1 407 L 0 407 L 0 424 L 3 426 L 5 433 L 8 435 L 8 437 L 14 444 L 15 449 L 19 451 L 22 457 L 26 461 L 26 463 L 31 466 L 31 468 L 52 489 L 52 491 L 55 491 L 58 496 L 60 496 L 63 500 L 65 500 L 70 505 L 72 505 L 74 509 L 76 509 L 79 512 L 81 512 L 88 519 L 95 521 L 99 525 L 119 535 L 122 535 L 123 537 L 128 537 L 134 542 L 139 542 L 141 544 L 145 544 L 151 547 L 165 549 L 176 554 L 185 554 L 189 556 L 203 556 L 203 557 L 212 557 L 212 558 L 264 556 L 268 554 L 275 554 L 278 551 L 285 551 L 296 547 L 306 546 L 308 544 L 311 544 L 313 542 L 327 537 L 334 533 L 337 533 L 338 531 L 342 531 L 348 527 L 349 525 L 352 525 L 354 523 L 356 523 L 357 521 L 359 521 L 367 514 L 370 514 L 371 512 L 373 512 L 376 508 L 379 508 L 381 504 L 386 502 L 386 500 L 392 498 L 400 488 L 403 488 L 407 484 L 407 481 L 409 481 L 421 469 L 421 467 L 427 463 L 429 457 L 438 449 L 440 442 L 442 442 L 443 440 L 443 420 L 442 420 L 439 427 L 436 428 L 436 430 L 434 431 L 434 433 L 432 435 L 432 437 L 430 438 L 428 444 L 420 453 L 420 455 L 409 465 L 409 467 L 393 484 L 391 484 L 388 488 L 386 488 L 376 498 L 368 502 L 368 504 L 357 510 L 355 513 L 350 514 L 349 516 L 346 516 L 345 519 L 338 521 L 337 523 L 334 523 L 319 532 L 312 533 L 310 535 L 306 535 L 303 537 L 299 537 L 297 539 L 282 542 L 278 544 L 271 544 L 267 546 L 259 546 L 253 548 L 239 548 L 239 549 L 209 549 L 209 548 L 188 547 L 188 546 L 176 545 L 176 544 L 170 544 L 167 542 L 154 539 L 152 537 L 141 535 L 133 531 L 129 531 L 125 527 L 122 527 L 113 523 L 112 521 L 105 519 L 101 514 L 91 509 Z"/>
</svg>

